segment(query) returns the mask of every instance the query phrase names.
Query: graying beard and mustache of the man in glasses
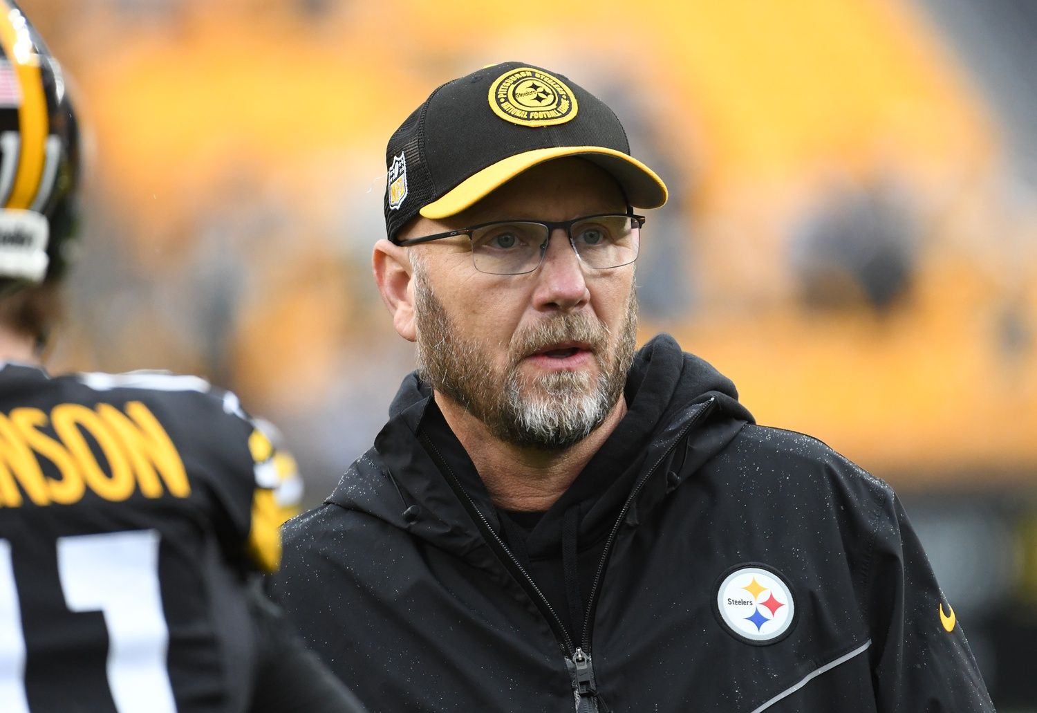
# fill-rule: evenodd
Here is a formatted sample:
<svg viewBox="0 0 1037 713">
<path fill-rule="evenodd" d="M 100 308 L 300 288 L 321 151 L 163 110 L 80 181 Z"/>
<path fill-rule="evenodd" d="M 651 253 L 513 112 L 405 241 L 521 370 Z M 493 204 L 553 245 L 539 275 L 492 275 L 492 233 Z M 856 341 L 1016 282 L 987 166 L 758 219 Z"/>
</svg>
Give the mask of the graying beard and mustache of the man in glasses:
<svg viewBox="0 0 1037 713">
<path fill-rule="evenodd" d="M 566 448 L 599 427 L 622 395 L 637 349 L 637 299 L 630 291 L 615 351 L 608 327 L 586 314 L 557 314 L 516 332 L 509 364 L 493 368 L 485 346 L 459 331 L 415 265 L 418 375 L 482 421 L 507 443 L 544 450 Z M 583 341 L 598 360 L 598 376 L 576 372 L 524 377 L 522 359 L 559 341 Z"/>
</svg>

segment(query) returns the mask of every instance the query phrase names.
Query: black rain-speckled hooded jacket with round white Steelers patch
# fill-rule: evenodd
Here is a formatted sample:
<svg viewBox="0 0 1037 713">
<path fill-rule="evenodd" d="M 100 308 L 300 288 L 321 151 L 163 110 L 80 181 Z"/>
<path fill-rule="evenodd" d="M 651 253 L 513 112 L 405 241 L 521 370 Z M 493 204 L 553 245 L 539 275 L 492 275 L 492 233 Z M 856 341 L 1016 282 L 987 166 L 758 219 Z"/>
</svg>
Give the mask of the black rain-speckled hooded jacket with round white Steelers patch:
<svg viewBox="0 0 1037 713">
<path fill-rule="evenodd" d="M 992 710 L 889 486 L 669 336 L 625 396 L 525 531 L 412 375 L 273 595 L 372 711 Z"/>
</svg>

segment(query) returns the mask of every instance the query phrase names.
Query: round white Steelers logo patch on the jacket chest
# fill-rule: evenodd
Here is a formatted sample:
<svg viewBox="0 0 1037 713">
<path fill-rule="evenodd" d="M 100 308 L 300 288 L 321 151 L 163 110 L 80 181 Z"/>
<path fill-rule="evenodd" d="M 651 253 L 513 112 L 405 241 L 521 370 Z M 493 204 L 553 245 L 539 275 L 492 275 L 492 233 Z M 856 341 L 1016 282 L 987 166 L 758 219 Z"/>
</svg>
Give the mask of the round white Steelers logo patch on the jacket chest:
<svg viewBox="0 0 1037 713">
<path fill-rule="evenodd" d="M 785 578 L 758 563 L 733 567 L 721 576 L 713 612 L 735 638 L 756 646 L 784 638 L 796 613 Z"/>
</svg>

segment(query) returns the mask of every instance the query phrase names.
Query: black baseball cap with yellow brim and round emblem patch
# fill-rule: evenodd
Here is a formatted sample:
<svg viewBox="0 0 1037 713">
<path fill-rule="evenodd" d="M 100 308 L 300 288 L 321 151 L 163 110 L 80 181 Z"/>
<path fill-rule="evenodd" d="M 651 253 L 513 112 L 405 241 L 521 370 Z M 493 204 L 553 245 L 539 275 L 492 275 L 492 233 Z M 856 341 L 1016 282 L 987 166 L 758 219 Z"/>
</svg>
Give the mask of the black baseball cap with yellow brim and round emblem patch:
<svg viewBox="0 0 1037 713">
<path fill-rule="evenodd" d="M 666 202 L 666 184 L 630 156 L 601 100 L 559 75 L 503 62 L 447 82 L 389 139 L 386 232 L 456 215 L 533 166 L 568 156 L 597 164 L 635 208 Z"/>
</svg>

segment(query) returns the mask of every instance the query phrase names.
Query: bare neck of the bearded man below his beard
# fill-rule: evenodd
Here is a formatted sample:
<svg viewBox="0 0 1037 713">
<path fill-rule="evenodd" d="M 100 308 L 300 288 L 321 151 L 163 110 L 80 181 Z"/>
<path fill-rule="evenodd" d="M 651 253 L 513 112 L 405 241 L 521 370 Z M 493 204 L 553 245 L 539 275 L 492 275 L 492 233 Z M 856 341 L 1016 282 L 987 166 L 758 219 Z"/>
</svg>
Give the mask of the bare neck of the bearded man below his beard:
<svg viewBox="0 0 1037 713">
<path fill-rule="evenodd" d="M 517 511 L 551 508 L 626 414 L 626 401 L 620 396 L 587 438 L 567 448 L 543 450 L 501 441 L 482 421 L 439 391 L 436 403 L 468 451 L 494 504 Z"/>
</svg>

